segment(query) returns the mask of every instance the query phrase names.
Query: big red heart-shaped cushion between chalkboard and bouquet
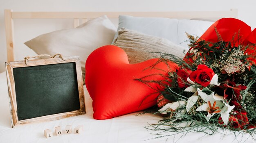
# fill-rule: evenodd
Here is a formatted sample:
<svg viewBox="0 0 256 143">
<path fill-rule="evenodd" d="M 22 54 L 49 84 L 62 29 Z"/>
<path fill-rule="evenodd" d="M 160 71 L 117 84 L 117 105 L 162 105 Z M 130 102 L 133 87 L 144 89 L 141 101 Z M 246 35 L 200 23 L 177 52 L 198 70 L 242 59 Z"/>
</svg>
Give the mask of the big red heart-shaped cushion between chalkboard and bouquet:
<svg viewBox="0 0 256 143">
<path fill-rule="evenodd" d="M 159 94 L 154 89 L 159 85 L 150 83 L 152 89 L 134 79 L 176 70 L 174 63 L 169 68 L 165 63 L 159 63 L 156 65 L 158 69 L 146 69 L 157 60 L 130 65 L 127 54 L 117 46 L 106 45 L 94 50 L 85 63 L 85 84 L 93 100 L 94 119 L 110 119 L 155 105 Z M 160 75 L 154 75 L 145 80 L 163 79 Z"/>
</svg>

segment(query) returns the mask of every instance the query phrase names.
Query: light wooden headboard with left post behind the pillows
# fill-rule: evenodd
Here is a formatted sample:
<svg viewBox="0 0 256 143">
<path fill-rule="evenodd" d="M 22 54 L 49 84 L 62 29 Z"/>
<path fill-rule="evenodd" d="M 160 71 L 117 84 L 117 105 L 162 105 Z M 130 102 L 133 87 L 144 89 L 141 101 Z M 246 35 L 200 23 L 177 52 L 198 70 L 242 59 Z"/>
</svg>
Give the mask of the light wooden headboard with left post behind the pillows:
<svg viewBox="0 0 256 143">
<path fill-rule="evenodd" d="M 169 11 L 169 12 L 13 12 L 10 9 L 4 10 L 5 32 L 7 43 L 7 61 L 14 61 L 13 41 L 13 19 L 49 18 L 49 19 L 74 19 L 74 27 L 87 22 L 91 18 L 107 15 L 108 18 L 118 18 L 119 15 L 131 15 L 137 17 L 166 17 L 179 19 L 213 19 L 221 17 L 237 18 L 238 10 L 230 11 Z"/>
</svg>

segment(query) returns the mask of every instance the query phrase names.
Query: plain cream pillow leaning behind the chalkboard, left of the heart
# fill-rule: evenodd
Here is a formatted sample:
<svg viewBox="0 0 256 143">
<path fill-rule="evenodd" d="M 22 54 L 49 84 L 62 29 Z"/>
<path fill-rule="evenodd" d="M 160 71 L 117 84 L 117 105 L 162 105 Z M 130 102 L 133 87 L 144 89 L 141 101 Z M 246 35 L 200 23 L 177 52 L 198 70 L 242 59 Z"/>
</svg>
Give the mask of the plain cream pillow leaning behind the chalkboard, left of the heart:
<svg viewBox="0 0 256 143">
<path fill-rule="evenodd" d="M 110 45 L 117 28 L 106 15 L 92 19 L 77 28 L 57 30 L 25 42 L 37 54 L 56 53 L 79 56 L 85 76 L 85 61 L 95 49 Z"/>
</svg>

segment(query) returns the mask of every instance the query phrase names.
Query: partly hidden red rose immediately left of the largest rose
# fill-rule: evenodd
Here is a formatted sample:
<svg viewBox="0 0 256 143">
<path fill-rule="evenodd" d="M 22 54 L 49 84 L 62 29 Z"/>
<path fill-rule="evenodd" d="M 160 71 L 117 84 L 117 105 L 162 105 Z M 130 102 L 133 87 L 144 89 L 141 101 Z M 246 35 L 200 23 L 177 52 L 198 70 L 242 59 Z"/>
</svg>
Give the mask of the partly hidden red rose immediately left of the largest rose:
<svg viewBox="0 0 256 143">
<path fill-rule="evenodd" d="M 179 69 L 177 71 L 177 82 L 178 82 L 179 88 L 188 87 L 188 85 L 186 85 L 186 82 L 191 72 L 192 72 L 191 70 L 186 70 L 186 69 Z"/>
</svg>

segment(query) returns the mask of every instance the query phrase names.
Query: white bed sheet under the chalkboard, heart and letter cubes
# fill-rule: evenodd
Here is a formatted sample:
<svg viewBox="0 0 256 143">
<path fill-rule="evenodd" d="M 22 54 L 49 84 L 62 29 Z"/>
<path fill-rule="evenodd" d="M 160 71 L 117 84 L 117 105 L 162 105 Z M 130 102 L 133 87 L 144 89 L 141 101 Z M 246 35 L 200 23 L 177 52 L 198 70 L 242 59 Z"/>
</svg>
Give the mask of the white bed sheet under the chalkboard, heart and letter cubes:
<svg viewBox="0 0 256 143">
<path fill-rule="evenodd" d="M 204 133 L 190 132 L 175 136 L 158 137 L 150 134 L 144 127 L 148 124 L 156 124 L 161 117 L 152 114 L 135 116 L 136 113 L 115 117 L 107 120 L 93 119 L 92 99 L 85 88 L 86 115 L 69 117 L 56 121 L 20 125 L 11 128 L 8 89 L 6 73 L 0 74 L 0 143 L 255 143 L 249 134 L 235 138 L 234 134 L 227 131 L 227 135 L 216 133 L 205 135 Z M 66 125 L 76 127 L 83 126 L 81 134 L 63 134 L 52 138 L 45 138 L 43 130 Z M 154 133 L 154 132 L 151 132 Z"/>
</svg>

